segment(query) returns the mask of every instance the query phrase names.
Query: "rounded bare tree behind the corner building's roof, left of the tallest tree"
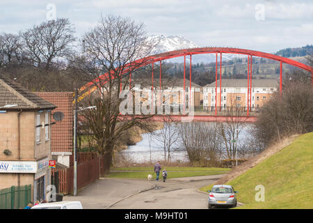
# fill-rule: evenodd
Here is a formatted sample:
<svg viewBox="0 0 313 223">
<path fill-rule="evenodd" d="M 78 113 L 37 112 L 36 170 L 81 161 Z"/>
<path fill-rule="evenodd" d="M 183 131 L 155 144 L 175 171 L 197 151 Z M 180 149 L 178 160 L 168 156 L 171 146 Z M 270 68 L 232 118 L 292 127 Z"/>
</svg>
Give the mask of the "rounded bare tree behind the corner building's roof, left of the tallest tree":
<svg viewBox="0 0 313 223">
<path fill-rule="evenodd" d="M 56 59 L 70 56 L 75 38 L 70 20 L 58 18 L 42 22 L 21 34 L 29 59 L 35 66 L 50 68 Z"/>
</svg>

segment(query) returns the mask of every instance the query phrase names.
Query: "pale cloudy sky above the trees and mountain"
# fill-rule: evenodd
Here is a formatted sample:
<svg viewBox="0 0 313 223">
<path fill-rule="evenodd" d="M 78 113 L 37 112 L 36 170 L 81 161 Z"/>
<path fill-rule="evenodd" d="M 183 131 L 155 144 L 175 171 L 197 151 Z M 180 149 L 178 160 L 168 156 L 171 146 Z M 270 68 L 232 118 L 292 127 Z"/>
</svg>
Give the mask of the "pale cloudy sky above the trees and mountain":
<svg viewBox="0 0 313 223">
<path fill-rule="evenodd" d="M 144 22 L 148 34 L 184 36 L 200 46 L 275 52 L 313 44 L 313 1 L 200 0 L 0 0 L 0 32 L 17 33 L 56 17 L 67 17 L 79 37 L 101 14 Z"/>
</svg>

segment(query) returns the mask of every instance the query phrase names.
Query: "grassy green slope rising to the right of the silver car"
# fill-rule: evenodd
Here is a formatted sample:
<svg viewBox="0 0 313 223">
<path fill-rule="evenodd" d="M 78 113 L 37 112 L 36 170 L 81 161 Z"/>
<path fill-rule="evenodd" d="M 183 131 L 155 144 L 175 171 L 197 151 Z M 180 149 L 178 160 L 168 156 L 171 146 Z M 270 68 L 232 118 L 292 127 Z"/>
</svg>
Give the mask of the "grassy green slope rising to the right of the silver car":
<svg viewBox="0 0 313 223">
<path fill-rule="evenodd" d="M 239 191 L 239 208 L 313 208 L 313 132 L 225 184 Z M 255 201 L 257 185 L 264 186 L 265 201 Z"/>
</svg>

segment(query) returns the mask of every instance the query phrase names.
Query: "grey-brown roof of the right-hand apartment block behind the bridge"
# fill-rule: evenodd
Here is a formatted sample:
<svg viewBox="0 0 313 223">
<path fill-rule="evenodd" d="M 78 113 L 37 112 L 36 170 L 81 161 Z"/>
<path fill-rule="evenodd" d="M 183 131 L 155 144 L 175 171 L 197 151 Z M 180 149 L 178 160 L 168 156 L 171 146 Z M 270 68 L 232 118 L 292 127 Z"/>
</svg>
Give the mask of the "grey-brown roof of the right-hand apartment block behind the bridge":
<svg viewBox="0 0 313 223">
<path fill-rule="evenodd" d="M 252 79 L 252 87 L 277 87 L 279 79 Z M 249 82 L 250 84 L 250 82 Z M 217 86 L 220 86 L 220 80 L 217 81 Z M 247 87 L 248 79 L 222 79 L 222 87 Z M 215 82 L 207 84 L 204 87 L 215 87 Z"/>
</svg>

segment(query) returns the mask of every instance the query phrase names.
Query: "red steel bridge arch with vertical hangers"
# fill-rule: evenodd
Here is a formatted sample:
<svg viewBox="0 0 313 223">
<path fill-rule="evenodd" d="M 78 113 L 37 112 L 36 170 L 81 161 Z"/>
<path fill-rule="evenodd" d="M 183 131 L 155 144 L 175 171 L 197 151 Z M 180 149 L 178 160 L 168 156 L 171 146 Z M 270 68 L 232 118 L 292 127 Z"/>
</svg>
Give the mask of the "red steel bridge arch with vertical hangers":
<svg viewBox="0 0 313 223">
<path fill-rule="evenodd" d="M 127 64 L 125 66 L 125 69 L 122 71 L 122 75 L 126 73 L 131 73 L 134 68 L 140 68 L 143 66 L 147 66 L 154 63 L 159 62 L 160 63 L 160 82 L 161 82 L 161 63 L 162 61 L 166 59 L 172 59 L 179 56 L 184 56 L 184 90 L 185 90 L 185 78 L 186 78 L 186 56 L 190 56 L 190 65 L 191 65 L 191 57 L 192 55 L 197 54 L 216 54 L 216 95 L 217 95 L 217 76 L 218 76 L 218 54 L 220 54 L 220 92 L 221 92 L 221 84 L 222 84 L 222 54 L 244 54 L 248 56 L 248 109 L 247 109 L 247 116 L 249 116 L 249 107 L 251 107 L 251 86 L 252 86 L 252 56 L 262 57 L 265 59 L 272 59 L 274 61 L 280 62 L 280 94 L 282 93 L 282 63 L 287 63 L 291 66 L 295 66 L 297 68 L 306 70 L 308 72 L 311 72 L 312 82 L 313 82 L 313 68 L 311 66 L 307 66 L 304 63 L 300 63 L 298 61 L 294 61 L 292 59 L 285 58 L 283 56 L 278 56 L 274 54 L 268 54 L 265 52 L 259 52 L 251 49 L 240 49 L 240 48 L 230 48 L 230 47 L 199 47 L 199 48 L 188 48 L 188 49 L 179 49 L 174 50 L 170 52 L 163 52 L 161 54 L 155 54 L 152 56 L 147 56 L 143 59 L 138 59 L 136 61 L 132 61 L 131 63 Z M 82 100 L 86 95 L 90 94 L 91 92 L 95 91 L 97 86 L 95 84 L 99 83 L 99 79 L 105 79 L 108 77 L 109 72 L 104 73 L 103 75 L 100 75 L 97 77 L 97 79 L 94 79 L 92 82 L 87 83 L 86 85 L 82 86 L 81 89 L 79 89 L 79 92 L 84 92 L 80 97 L 79 101 Z M 152 71 L 152 77 L 153 77 L 153 71 Z M 189 78 L 191 79 L 191 66 L 189 71 Z M 105 83 L 105 82 L 104 82 Z M 191 82 L 190 82 L 191 84 Z M 153 85 L 153 82 L 152 82 Z M 161 86 L 160 86 L 161 87 Z M 190 86 L 191 87 L 191 86 Z M 153 89 L 153 88 L 152 88 Z M 153 90 L 152 90 L 153 91 Z M 184 91 L 185 92 L 185 91 Z M 189 91 L 191 93 L 191 91 Z M 191 95 L 189 95 L 191 98 Z M 216 96 L 217 97 L 217 96 Z M 221 102 L 221 93 L 219 102 Z M 217 102 L 217 98 L 216 98 Z M 249 103 L 250 102 L 250 103 Z M 250 104 L 250 105 L 249 105 Z M 185 104 L 184 104 L 185 107 Z M 217 104 L 216 104 L 216 110 L 215 114 L 217 113 Z"/>
</svg>

